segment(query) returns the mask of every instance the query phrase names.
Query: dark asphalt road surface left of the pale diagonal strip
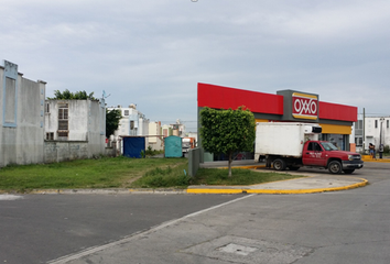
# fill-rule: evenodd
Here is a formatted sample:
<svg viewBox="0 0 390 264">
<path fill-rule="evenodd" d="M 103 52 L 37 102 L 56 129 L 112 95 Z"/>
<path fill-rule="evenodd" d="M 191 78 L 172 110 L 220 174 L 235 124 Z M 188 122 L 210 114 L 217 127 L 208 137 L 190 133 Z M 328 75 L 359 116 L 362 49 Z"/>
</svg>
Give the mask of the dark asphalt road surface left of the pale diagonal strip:
<svg viewBox="0 0 390 264">
<path fill-rule="evenodd" d="M 18 196 L 0 196 L 0 263 L 46 263 L 237 198 L 25 195 L 13 200 L 14 197 Z"/>
</svg>

